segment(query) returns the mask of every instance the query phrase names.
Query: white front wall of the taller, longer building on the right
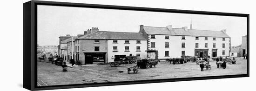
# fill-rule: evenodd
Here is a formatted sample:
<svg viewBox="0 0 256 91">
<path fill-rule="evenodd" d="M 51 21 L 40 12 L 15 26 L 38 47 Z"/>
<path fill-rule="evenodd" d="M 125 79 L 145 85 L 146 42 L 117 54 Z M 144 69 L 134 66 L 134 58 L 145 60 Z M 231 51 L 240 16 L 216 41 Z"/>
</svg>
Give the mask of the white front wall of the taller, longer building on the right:
<svg viewBox="0 0 256 91">
<path fill-rule="evenodd" d="M 205 37 L 199 37 L 199 40 L 195 40 L 195 36 L 185 36 L 185 40 L 182 40 L 182 36 L 169 35 L 169 39 L 165 39 L 165 35 L 155 35 L 155 39 L 150 39 L 149 35 L 149 49 L 158 51 L 158 58 L 180 58 L 182 51 L 185 51 L 186 56 L 195 55 L 195 43 L 199 43 L 198 47 L 204 49 L 204 44 L 208 43 L 208 55 L 212 55 L 213 43 L 216 43 L 217 56 L 229 56 L 229 38 L 217 38 L 213 40 L 213 37 L 208 37 L 208 40 L 204 40 Z M 155 42 L 155 48 L 151 48 L 151 43 Z M 165 42 L 169 42 L 169 48 L 165 48 Z M 182 42 L 185 43 L 185 48 L 182 48 Z M 222 48 L 222 43 L 225 43 L 225 48 Z M 207 48 L 206 48 L 207 49 Z M 225 50 L 225 55 L 222 55 L 222 50 Z M 165 51 L 169 51 L 169 57 L 165 57 Z"/>
</svg>

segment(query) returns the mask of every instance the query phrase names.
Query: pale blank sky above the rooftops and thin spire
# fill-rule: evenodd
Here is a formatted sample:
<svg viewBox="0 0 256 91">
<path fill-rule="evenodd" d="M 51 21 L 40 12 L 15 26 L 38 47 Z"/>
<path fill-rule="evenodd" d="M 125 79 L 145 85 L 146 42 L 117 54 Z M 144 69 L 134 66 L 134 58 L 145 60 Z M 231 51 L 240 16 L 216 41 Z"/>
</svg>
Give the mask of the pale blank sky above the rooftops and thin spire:
<svg viewBox="0 0 256 91">
<path fill-rule="evenodd" d="M 38 5 L 37 13 L 38 45 L 59 45 L 59 36 L 76 36 L 92 27 L 99 31 L 139 32 L 140 25 L 182 28 L 190 27 L 191 20 L 193 29 L 226 29 L 231 46 L 241 45 L 247 33 L 246 17 L 45 5 Z"/>
</svg>

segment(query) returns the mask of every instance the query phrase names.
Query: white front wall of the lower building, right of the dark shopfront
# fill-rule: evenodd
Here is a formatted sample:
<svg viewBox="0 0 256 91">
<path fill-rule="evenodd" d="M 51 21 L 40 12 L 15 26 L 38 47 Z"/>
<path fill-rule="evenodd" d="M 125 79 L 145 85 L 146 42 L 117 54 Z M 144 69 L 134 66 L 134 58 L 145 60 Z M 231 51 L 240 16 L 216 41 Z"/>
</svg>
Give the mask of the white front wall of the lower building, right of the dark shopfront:
<svg viewBox="0 0 256 91">
<path fill-rule="evenodd" d="M 141 54 L 141 59 L 147 58 L 147 40 L 141 40 L 141 44 L 136 44 L 136 40 L 129 40 L 130 44 L 124 44 L 125 40 L 117 40 L 117 44 L 113 43 L 113 40 L 108 40 L 108 62 L 114 62 L 115 55 L 127 55 Z M 118 52 L 113 52 L 113 46 L 117 46 Z M 124 52 L 125 46 L 129 46 L 130 52 Z M 141 46 L 141 52 L 136 52 L 136 46 Z M 113 56 L 113 59 L 112 59 Z"/>
</svg>

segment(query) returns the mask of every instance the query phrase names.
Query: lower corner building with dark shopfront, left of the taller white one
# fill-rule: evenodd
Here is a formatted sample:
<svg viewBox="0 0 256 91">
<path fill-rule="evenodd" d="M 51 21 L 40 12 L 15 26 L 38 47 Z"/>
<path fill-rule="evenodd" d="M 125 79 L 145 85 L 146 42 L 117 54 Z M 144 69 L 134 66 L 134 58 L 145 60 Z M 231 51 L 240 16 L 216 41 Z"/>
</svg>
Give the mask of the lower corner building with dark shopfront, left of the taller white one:
<svg viewBox="0 0 256 91">
<path fill-rule="evenodd" d="M 107 32 L 93 27 L 74 42 L 82 65 L 114 62 L 130 54 L 147 57 L 147 39 L 137 32 Z"/>
</svg>

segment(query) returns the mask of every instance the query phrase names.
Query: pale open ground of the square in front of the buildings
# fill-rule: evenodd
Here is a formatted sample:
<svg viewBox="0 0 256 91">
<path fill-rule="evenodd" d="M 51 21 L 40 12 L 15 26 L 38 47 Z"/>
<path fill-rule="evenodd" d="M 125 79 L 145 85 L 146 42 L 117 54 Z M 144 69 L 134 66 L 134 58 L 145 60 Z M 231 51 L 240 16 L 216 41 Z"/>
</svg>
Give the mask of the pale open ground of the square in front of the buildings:
<svg viewBox="0 0 256 91">
<path fill-rule="evenodd" d="M 179 65 L 160 62 L 156 67 L 139 69 L 137 74 L 127 73 L 127 68 L 135 64 L 118 67 L 110 67 L 110 65 L 68 67 L 67 72 L 62 72 L 61 66 L 38 62 L 38 86 L 246 74 L 246 60 L 243 58 L 236 60 L 235 65 L 227 64 L 226 69 L 217 68 L 216 62 L 210 61 L 212 68 L 205 71 L 200 71 L 199 65 L 191 62 Z"/>
</svg>

